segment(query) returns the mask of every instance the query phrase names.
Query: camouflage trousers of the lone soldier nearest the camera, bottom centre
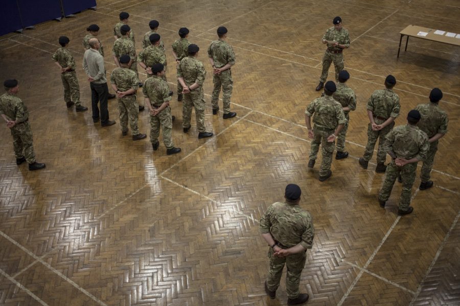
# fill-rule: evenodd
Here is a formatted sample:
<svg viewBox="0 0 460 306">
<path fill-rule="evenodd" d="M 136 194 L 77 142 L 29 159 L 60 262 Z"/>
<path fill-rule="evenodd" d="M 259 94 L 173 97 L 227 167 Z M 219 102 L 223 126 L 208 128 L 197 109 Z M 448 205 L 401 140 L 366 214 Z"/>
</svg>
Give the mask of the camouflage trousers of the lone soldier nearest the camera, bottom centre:
<svg viewBox="0 0 460 306">
<path fill-rule="evenodd" d="M 286 292 L 293 299 L 299 295 L 298 285 L 302 270 L 304 269 L 307 255 L 305 252 L 290 254 L 286 257 L 274 257 L 273 249 L 268 251 L 270 265 L 268 267 L 267 287 L 270 291 L 276 291 L 280 285 L 283 268 L 286 264 Z"/>
</svg>

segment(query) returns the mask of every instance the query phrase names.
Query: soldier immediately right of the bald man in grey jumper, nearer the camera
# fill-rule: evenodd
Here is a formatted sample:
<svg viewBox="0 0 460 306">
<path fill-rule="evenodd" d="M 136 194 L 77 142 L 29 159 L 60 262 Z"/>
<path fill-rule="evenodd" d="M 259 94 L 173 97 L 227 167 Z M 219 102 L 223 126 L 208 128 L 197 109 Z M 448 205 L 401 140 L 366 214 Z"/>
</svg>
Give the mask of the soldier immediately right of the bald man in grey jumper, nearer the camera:
<svg viewBox="0 0 460 306">
<path fill-rule="evenodd" d="M 139 132 L 137 116 L 139 104 L 136 100 L 136 91 L 139 88 L 139 79 L 134 71 L 129 69 L 129 55 L 122 55 L 119 59 L 120 67 L 115 68 L 110 75 L 110 84 L 118 95 L 118 110 L 120 111 L 120 125 L 122 135 L 128 134 L 128 118 L 131 126 L 132 140 L 140 140 L 147 137 Z"/>
</svg>

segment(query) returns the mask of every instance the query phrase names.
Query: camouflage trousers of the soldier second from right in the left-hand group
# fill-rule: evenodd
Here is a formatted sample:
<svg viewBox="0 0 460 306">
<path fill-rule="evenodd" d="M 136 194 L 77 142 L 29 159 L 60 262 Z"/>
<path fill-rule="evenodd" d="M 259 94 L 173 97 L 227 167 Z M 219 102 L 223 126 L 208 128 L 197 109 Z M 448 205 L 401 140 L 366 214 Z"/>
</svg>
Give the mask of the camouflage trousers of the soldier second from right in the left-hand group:
<svg viewBox="0 0 460 306">
<path fill-rule="evenodd" d="M 204 125 L 204 94 L 203 88 L 200 86 L 192 90 L 190 93 L 185 93 L 182 100 L 182 127 L 190 127 L 192 117 L 192 106 L 195 108 L 196 129 L 198 133 L 205 132 Z"/>
</svg>

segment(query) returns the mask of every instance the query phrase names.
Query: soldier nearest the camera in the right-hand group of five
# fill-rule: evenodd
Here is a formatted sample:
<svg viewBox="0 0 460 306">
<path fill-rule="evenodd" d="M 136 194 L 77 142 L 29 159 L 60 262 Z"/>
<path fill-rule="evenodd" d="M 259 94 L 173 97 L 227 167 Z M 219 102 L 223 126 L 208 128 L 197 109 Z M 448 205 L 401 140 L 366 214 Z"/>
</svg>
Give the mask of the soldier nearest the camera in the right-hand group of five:
<svg viewBox="0 0 460 306">
<path fill-rule="evenodd" d="M 415 181 L 417 162 L 425 160 L 429 150 L 428 136 L 417 127 L 420 112 L 411 110 L 407 114 L 407 125 L 400 125 L 390 131 L 385 138 L 383 149 L 392 157 L 385 172 L 385 179 L 379 192 L 379 205 L 385 202 L 392 193 L 396 177 L 401 174 L 402 191 L 398 215 L 410 214 L 410 193 Z"/>
</svg>

